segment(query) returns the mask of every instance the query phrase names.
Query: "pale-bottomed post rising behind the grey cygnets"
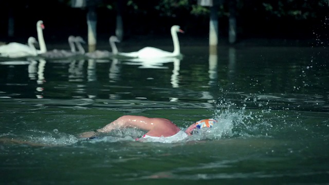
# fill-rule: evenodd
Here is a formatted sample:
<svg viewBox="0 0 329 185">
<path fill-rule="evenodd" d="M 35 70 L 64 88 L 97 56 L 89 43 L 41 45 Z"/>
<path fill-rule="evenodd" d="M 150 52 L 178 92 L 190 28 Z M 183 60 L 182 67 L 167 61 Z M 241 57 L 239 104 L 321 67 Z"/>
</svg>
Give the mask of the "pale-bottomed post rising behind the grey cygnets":
<svg viewBox="0 0 329 185">
<path fill-rule="evenodd" d="M 95 6 L 89 6 L 87 12 L 87 25 L 88 25 L 88 51 L 93 52 L 96 50 L 97 44 L 97 13 Z"/>
</svg>

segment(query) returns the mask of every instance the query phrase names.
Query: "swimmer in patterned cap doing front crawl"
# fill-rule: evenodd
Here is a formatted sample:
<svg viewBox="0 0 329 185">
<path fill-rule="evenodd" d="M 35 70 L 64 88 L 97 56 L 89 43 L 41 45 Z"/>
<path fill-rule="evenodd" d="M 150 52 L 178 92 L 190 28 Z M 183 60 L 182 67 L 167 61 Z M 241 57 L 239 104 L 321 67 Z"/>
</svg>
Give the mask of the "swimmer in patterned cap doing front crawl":
<svg viewBox="0 0 329 185">
<path fill-rule="evenodd" d="M 212 127 L 217 123 L 214 119 L 204 119 L 191 124 L 185 131 L 168 119 L 148 118 L 144 116 L 121 116 L 117 120 L 105 125 L 98 130 L 80 134 L 81 138 L 94 139 L 98 133 L 109 133 L 117 128 L 133 127 L 148 131 L 141 138 L 136 140 L 146 140 L 154 142 L 177 142 L 197 133 L 197 130 L 204 127 Z"/>
</svg>

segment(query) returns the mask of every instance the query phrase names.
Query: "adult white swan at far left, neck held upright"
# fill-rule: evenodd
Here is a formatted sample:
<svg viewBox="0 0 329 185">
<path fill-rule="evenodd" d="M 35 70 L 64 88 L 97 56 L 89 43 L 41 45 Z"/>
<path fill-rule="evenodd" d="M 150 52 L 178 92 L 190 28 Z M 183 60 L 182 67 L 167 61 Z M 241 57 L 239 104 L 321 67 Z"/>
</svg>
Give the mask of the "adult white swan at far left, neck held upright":
<svg viewBox="0 0 329 185">
<path fill-rule="evenodd" d="M 0 46 L 0 55 L 2 57 L 9 57 L 9 58 L 20 58 L 20 57 L 27 57 L 27 56 L 35 56 L 40 53 L 44 53 L 47 51 L 45 40 L 43 38 L 43 29 L 44 25 L 42 21 L 38 21 L 36 23 L 36 32 L 38 33 L 38 40 L 39 40 L 39 46 L 40 50 L 36 50 L 34 47 L 34 43 L 32 45 L 25 45 L 21 43 L 9 43 L 7 45 Z M 32 37 L 30 37 L 32 38 Z M 30 40 L 29 38 L 29 40 Z M 33 40 L 31 39 L 31 41 Z M 38 43 L 38 42 L 36 42 Z M 32 47 L 31 47 L 32 46 Z"/>
</svg>

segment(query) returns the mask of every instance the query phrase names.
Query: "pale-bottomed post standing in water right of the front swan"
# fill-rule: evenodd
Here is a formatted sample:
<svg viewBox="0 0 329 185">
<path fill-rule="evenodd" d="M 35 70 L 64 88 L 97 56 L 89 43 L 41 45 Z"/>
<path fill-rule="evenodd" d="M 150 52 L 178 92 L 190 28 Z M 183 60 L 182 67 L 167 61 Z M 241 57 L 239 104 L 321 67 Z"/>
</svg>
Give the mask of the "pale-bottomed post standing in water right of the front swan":
<svg viewBox="0 0 329 185">
<path fill-rule="evenodd" d="M 209 51 L 216 53 L 218 44 L 218 17 L 217 6 L 210 7 L 210 22 L 209 22 Z M 215 50 L 215 51 L 214 51 Z"/>
</svg>

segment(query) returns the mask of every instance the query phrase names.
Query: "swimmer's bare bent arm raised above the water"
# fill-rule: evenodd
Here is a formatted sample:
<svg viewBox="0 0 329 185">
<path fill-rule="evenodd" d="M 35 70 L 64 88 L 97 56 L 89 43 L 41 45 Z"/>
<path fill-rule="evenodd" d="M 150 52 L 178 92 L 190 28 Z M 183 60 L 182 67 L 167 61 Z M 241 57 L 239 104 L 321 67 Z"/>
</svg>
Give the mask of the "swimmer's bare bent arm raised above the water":
<svg viewBox="0 0 329 185">
<path fill-rule="evenodd" d="M 152 130 L 152 128 L 154 128 L 155 123 L 158 124 L 163 120 L 164 119 L 148 118 L 144 116 L 126 115 L 126 116 L 121 116 L 117 120 L 105 125 L 103 128 L 100 128 L 96 131 L 101 133 L 108 133 L 115 130 L 116 128 L 125 128 L 125 127 L 135 127 L 135 128 L 140 128 L 142 130 L 150 131 Z"/>
</svg>

